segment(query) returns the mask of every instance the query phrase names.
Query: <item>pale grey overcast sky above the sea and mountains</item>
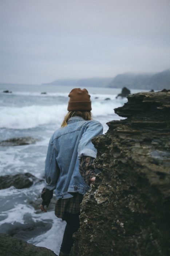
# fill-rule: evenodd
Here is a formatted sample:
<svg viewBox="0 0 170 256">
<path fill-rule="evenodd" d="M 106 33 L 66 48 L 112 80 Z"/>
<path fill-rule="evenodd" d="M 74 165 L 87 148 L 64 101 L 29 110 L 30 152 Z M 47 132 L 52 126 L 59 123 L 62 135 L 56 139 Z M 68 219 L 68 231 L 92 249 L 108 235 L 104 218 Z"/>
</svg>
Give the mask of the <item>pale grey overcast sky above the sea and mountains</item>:
<svg viewBox="0 0 170 256">
<path fill-rule="evenodd" d="M 0 82 L 170 68 L 170 0 L 0 0 Z"/>
</svg>

